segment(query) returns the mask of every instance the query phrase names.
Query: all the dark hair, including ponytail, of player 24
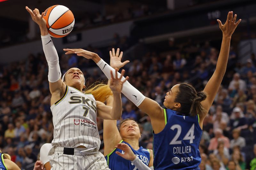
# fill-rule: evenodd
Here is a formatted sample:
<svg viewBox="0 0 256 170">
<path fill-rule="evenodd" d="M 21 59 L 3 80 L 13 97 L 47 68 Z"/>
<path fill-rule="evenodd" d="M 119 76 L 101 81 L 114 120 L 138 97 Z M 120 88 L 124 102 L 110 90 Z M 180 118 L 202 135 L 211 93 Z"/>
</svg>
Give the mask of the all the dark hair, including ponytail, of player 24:
<svg viewBox="0 0 256 170">
<path fill-rule="evenodd" d="M 180 109 L 178 110 L 180 113 L 190 113 L 191 116 L 196 116 L 206 112 L 200 103 L 205 99 L 205 92 L 196 92 L 192 85 L 181 83 L 174 102 L 180 103 Z"/>
</svg>

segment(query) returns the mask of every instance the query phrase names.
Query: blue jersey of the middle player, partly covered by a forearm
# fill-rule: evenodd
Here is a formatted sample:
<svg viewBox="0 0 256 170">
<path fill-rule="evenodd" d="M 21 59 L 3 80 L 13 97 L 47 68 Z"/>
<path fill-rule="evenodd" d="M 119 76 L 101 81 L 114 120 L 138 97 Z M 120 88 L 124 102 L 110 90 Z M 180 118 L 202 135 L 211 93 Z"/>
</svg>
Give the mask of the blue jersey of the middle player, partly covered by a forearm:
<svg viewBox="0 0 256 170">
<path fill-rule="evenodd" d="M 124 144 L 128 144 L 126 142 L 124 142 L 123 140 L 120 143 L 124 143 Z M 131 145 L 128 144 L 130 147 Z M 144 163 L 148 166 L 149 164 L 149 160 L 150 160 L 150 154 L 148 149 L 145 149 L 143 147 L 140 146 L 139 150 L 134 150 L 132 147 L 132 152 Z M 105 156 L 107 163 L 108 163 L 108 167 L 111 170 L 136 170 L 137 168 L 135 168 L 135 166 L 132 164 L 131 161 L 126 160 L 120 156 L 118 156 L 116 154 L 116 151 L 123 153 L 123 151 L 121 149 L 115 149 L 114 151 L 112 151 L 111 153 L 109 153 L 107 156 Z"/>
</svg>

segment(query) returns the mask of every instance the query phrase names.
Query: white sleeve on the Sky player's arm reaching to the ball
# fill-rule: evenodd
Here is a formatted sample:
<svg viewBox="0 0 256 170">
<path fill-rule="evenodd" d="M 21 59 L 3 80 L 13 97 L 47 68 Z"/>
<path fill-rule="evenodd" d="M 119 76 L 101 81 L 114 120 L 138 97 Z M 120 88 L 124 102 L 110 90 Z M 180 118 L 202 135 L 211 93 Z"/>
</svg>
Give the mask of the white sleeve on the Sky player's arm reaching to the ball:
<svg viewBox="0 0 256 170">
<path fill-rule="evenodd" d="M 44 55 L 49 67 L 48 80 L 49 82 L 54 83 L 61 78 L 58 53 L 53 45 L 50 34 L 45 36 L 41 35 L 41 39 L 43 44 Z"/>
</svg>

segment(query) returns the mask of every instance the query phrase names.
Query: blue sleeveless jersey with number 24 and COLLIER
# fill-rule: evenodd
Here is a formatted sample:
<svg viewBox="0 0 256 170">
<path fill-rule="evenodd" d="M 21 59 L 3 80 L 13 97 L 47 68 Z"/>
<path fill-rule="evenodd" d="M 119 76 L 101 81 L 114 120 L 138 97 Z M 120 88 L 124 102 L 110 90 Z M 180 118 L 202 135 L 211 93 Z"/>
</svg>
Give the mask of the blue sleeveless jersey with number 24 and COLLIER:
<svg viewBox="0 0 256 170">
<path fill-rule="evenodd" d="M 165 127 L 160 133 L 153 133 L 155 170 L 199 169 L 202 136 L 199 117 L 177 114 L 164 109 Z"/>
</svg>

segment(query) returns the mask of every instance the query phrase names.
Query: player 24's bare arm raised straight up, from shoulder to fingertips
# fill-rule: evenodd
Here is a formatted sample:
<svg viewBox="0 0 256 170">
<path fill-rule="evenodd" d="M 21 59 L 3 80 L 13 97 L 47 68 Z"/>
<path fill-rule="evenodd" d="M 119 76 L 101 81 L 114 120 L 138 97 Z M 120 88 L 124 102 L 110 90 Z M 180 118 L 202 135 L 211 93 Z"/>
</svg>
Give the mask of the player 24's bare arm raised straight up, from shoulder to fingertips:
<svg viewBox="0 0 256 170">
<path fill-rule="evenodd" d="M 241 22 L 241 19 L 236 22 L 236 14 L 233 17 L 233 11 L 231 11 L 228 12 L 228 17 L 224 25 L 221 24 L 219 19 L 217 19 L 217 21 L 222 31 L 222 42 L 216 70 L 204 88 L 204 92 L 207 93 L 207 97 L 204 101 L 201 102 L 201 104 L 207 111 L 212 105 L 212 102 L 216 96 L 216 93 L 218 92 L 221 81 L 226 72 L 231 35 L 234 33 L 236 27 Z M 200 125 L 203 125 L 203 120 L 207 113 L 203 113 L 201 115 L 202 117 L 200 117 Z"/>
</svg>

